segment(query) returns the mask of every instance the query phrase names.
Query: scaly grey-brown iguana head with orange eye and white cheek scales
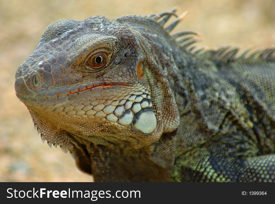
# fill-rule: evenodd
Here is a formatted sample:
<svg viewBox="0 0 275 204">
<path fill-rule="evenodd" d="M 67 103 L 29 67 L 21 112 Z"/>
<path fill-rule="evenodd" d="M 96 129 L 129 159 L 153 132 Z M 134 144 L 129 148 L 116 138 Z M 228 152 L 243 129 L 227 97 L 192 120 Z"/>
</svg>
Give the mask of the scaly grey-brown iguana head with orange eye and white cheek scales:
<svg viewBox="0 0 275 204">
<path fill-rule="evenodd" d="M 18 67 L 16 95 L 49 143 L 150 145 L 179 124 L 171 43 L 154 15 L 55 21 Z"/>
</svg>

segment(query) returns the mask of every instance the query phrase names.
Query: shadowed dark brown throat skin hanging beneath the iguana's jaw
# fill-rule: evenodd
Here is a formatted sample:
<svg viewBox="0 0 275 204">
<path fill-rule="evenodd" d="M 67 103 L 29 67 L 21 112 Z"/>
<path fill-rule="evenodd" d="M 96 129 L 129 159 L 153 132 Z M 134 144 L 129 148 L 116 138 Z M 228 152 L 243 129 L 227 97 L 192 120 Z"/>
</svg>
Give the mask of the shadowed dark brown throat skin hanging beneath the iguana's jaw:
<svg viewBox="0 0 275 204">
<path fill-rule="evenodd" d="M 74 157 L 77 157 L 78 167 L 93 174 L 98 182 L 114 182 L 113 178 L 117 178 L 118 175 L 120 179 L 117 182 L 161 182 L 169 181 L 173 171 L 175 133 L 176 131 L 165 133 L 157 144 L 138 149 L 133 148 L 126 141 L 121 141 L 119 146 L 112 146 L 111 143 L 95 145 L 79 135 L 70 135 L 70 137 L 75 144 Z M 160 151 L 166 151 L 167 154 L 160 155 L 158 153 Z"/>
</svg>

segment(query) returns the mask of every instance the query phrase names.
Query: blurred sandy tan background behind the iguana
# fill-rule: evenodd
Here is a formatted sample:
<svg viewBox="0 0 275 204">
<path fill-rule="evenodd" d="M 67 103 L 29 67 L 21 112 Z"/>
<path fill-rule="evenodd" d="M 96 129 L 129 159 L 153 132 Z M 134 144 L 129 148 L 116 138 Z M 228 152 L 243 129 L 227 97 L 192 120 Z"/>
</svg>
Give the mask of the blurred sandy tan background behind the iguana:
<svg viewBox="0 0 275 204">
<path fill-rule="evenodd" d="M 16 69 L 35 49 L 44 29 L 61 18 L 147 15 L 176 5 L 179 14 L 189 10 L 177 30 L 201 32 L 204 41 L 198 46 L 275 44 L 272 0 L 0 0 L 0 181 L 93 181 L 75 167 L 69 153 L 42 144 L 27 108 L 15 96 Z"/>
</svg>

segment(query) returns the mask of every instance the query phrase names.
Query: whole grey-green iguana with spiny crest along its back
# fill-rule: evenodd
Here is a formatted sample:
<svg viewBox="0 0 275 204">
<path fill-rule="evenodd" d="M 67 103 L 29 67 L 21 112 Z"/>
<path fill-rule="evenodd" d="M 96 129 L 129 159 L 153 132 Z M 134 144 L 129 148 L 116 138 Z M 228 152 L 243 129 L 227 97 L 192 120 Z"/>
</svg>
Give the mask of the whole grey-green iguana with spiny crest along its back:
<svg viewBox="0 0 275 204">
<path fill-rule="evenodd" d="M 15 76 L 42 141 L 96 182 L 274 182 L 275 48 L 198 49 L 175 12 L 50 24 Z"/>
</svg>

